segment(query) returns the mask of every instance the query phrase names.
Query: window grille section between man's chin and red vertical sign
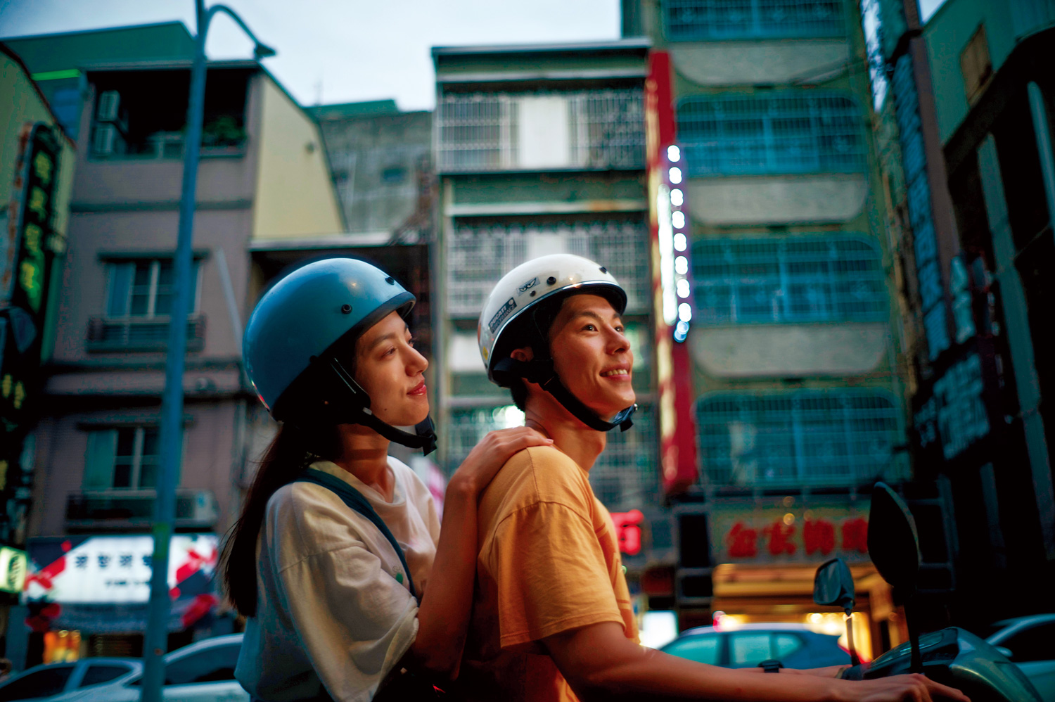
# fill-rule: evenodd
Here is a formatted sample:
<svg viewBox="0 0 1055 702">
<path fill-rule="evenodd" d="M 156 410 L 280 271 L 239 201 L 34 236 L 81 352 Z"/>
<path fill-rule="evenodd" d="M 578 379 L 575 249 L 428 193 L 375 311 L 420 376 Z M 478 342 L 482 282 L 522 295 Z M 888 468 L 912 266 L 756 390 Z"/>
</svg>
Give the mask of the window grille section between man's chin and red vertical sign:
<svg viewBox="0 0 1055 702">
<path fill-rule="evenodd" d="M 659 500 L 656 422 L 652 406 L 638 404 L 634 425 L 608 433 L 608 447 L 590 469 L 594 494 L 610 511 L 655 506 Z"/>
</svg>

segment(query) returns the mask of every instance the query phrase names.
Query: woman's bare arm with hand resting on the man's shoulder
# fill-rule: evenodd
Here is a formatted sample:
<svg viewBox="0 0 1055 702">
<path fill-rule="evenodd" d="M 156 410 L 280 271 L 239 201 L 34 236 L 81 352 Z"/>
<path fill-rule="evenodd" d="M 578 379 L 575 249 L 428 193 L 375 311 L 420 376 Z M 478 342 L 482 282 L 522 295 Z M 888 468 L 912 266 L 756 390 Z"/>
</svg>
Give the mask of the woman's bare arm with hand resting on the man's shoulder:
<svg viewBox="0 0 1055 702">
<path fill-rule="evenodd" d="M 515 426 L 488 433 L 450 477 L 428 588 L 418 609 L 418 637 L 404 665 L 454 679 L 458 676 L 476 578 L 476 502 L 513 454 L 553 443 L 535 430 Z"/>
</svg>

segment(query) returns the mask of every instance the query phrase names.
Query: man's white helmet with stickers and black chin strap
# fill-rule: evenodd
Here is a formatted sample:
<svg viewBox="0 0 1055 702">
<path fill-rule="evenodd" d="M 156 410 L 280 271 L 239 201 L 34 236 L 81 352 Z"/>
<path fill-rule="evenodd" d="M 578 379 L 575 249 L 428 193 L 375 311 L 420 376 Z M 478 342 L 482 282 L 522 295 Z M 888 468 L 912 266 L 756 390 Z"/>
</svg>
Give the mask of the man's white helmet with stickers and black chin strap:
<svg viewBox="0 0 1055 702">
<path fill-rule="evenodd" d="M 576 292 L 608 298 L 620 315 L 627 308 L 627 292 L 615 277 L 600 264 L 580 255 L 543 255 L 505 273 L 484 303 L 476 330 L 487 379 L 502 387 L 507 387 L 516 378 L 537 382 L 588 426 L 597 431 L 620 426 L 626 431 L 632 423 L 630 416 L 637 409 L 636 404 L 625 409 L 612 421 L 598 417 L 563 386 L 553 369 L 553 359 L 545 353 L 543 335 L 546 330 L 538 328 L 535 312 L 549 306 L 541 304 L 543 301 L 555 302 Z M 515 361 L 510 353 L 516 347 L 514 343 L 522 341 L 525 335 L 542 343 L 534 348 L 533 360 Z M 515 337 L 514 343 L 510 343 L 511 337 Z"/>
</svg>

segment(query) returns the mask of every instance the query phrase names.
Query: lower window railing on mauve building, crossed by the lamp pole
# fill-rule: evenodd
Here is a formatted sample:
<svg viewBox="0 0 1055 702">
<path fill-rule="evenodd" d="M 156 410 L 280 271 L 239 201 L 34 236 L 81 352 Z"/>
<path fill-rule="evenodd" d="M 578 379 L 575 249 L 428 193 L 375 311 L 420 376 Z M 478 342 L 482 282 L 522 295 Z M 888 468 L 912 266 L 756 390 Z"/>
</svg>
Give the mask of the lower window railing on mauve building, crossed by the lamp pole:
<svg viewBox="0 0 1055 702">
<path fill-rule="evenodd" d="M 66 499 L 68 529 L 143 529 L 154 518 L 154 490 L 73 493 Z M 176 527 L 211 528 L 218 514 L 210 490 L 176 492 Z"/>
</svg>

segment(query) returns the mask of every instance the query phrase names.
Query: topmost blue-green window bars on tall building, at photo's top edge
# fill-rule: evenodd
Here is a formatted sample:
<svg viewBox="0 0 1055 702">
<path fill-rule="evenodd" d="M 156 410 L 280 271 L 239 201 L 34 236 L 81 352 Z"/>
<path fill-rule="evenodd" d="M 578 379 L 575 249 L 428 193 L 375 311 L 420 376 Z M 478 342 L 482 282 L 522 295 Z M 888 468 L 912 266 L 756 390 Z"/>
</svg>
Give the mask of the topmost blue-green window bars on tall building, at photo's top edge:
<svg viewBox="0 0 1055 702">
<path fill-rule="evenodd" d="M 671 41 L 833 37 L 845 34 L 843 0 L 663 0 Z"/>
</svg>

